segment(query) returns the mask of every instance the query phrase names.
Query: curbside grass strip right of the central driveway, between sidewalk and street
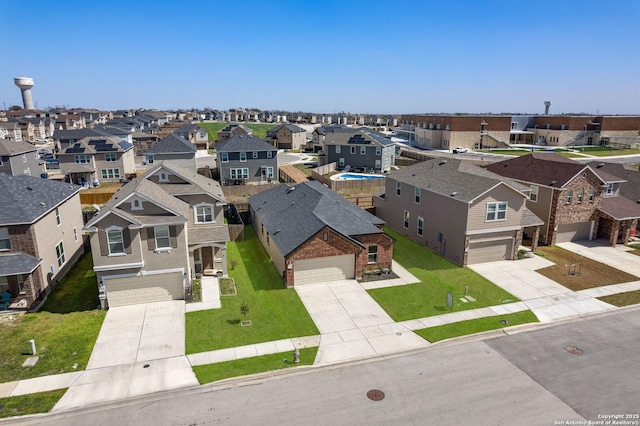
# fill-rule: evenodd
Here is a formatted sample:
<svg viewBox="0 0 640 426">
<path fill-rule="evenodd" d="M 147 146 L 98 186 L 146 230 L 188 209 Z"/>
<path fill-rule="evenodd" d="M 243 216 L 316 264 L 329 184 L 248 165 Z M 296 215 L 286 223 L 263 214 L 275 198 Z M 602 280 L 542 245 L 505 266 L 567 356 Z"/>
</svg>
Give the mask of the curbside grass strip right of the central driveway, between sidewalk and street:
<svg viewBox="0 0 640 426">
<path fill-rule="evenodd" d="M 477 318 L 437 327 L 423 328 L 421 330 L 415 330 L 415 333 L 433 343 L 452 337 L 466 336 L 530 322 L 538 322 L 538 317 L 531 311 L 522 311 L 513 314 L 496 315 L 494 317 Z"/>
</svg>

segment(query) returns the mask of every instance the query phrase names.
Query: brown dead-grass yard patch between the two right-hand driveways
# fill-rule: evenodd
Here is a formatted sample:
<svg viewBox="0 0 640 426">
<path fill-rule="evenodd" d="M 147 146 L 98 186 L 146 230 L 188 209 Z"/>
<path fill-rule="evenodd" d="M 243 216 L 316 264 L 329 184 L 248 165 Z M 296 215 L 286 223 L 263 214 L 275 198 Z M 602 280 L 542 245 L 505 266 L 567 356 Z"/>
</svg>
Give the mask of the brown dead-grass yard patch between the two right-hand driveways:
<svg viewBox="0 0 640 426">
<path fill-rule="evenodd" d="M 555 263 L 536 272 L 573 291 L 638 280 L 634 275 L 560 247 L 538 247 L 536 254 Z"/>
</svg>

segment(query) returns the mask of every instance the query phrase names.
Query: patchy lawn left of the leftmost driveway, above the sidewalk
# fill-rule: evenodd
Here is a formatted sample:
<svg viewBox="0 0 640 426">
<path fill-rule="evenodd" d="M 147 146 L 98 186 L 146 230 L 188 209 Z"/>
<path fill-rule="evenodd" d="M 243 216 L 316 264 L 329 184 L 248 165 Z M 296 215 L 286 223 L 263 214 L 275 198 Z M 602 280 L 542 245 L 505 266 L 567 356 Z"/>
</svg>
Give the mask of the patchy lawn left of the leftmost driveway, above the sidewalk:
<svg viewBox="0 0 640 426">
<path fill-rule="evenodd" d="M 0 383 L 84 370 L 104 321 L 105 311 L 0 317 Z M 23 368 L 35 340 L 37 364 Z"/>
</svg>

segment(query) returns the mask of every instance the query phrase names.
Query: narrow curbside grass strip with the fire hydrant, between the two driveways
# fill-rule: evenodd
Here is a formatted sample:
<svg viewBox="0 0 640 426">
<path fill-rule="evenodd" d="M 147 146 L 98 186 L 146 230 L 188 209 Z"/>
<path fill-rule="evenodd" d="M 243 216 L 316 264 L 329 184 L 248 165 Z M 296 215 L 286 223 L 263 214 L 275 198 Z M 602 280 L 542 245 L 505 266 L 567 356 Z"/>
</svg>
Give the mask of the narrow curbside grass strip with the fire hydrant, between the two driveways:
<svg viewBox="0 0 640 426">
<path fill-rule="evenodd" d="M 196 373 L 200 384 L 203 385 L 217 380 L 228 379 L 229 377 L 281 370 L 298 365 L 313 365 L 317 353 L 317 347 L 300 349 L 300 362 L 297 364 L 293 363 L 292 352 L 282 352 L 217 364 L 199 365 L 193 367 L 193 371 Z"/>
</svg>

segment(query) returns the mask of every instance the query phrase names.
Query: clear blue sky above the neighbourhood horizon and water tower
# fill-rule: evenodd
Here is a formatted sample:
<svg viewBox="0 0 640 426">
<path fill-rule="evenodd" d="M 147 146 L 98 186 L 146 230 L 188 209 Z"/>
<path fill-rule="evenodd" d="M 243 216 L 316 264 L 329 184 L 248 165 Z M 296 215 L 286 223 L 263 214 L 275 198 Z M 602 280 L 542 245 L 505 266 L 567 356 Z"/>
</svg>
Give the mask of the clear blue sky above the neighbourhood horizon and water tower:
<svg viewBox="0 0 640 426">
<path fill-rule="evenodd" d="M 0 108 L 640 114 L 640 1 L 0 1 Z"/>
</svg>

